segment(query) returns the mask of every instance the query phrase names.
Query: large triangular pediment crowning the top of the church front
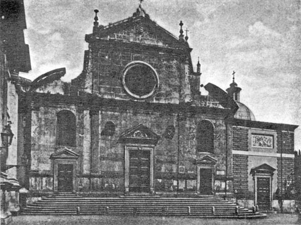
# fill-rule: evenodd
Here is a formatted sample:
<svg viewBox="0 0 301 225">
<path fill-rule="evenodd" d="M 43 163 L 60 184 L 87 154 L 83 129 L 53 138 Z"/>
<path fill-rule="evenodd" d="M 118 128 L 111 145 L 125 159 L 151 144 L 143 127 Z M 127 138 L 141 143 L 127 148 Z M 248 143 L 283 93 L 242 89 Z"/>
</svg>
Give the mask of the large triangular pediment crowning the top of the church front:
<svg viewBox="0 0 301 225">
<path fill-rule="evenodd" d="M 147 17 L 130 17 L 99 29 L 99 37 L 165 47 L 179 47 L 178 38 Z"/>
</svg>

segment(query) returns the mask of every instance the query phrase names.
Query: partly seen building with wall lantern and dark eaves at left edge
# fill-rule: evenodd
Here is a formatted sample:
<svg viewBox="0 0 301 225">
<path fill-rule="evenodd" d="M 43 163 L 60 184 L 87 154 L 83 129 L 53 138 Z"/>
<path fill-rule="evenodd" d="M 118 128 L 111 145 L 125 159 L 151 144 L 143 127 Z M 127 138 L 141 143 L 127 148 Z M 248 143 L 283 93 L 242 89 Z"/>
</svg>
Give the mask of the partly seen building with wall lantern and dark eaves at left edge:
<svg viewBox="0 0 301 225">
<path fill-rule="evenodd" d="M 19 72 L 31 70 L 29 47 L 24 42 L 26 29 L 23 1 L 0 2 L 0 132 L 1 132 L 1 223 L 11 221 L 18 212 L 19 189 L 17 168 L 19 126 L 18 103 L 21 92 L 31 83 Z"/>
</svg>

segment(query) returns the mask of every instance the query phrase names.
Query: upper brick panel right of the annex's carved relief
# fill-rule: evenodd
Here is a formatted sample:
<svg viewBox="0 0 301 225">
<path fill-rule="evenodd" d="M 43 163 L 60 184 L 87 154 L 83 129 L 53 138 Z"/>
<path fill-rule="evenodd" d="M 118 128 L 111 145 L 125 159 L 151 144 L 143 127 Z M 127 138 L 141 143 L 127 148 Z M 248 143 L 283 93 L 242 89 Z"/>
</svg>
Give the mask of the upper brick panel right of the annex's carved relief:
<svg viewBox="0 0 301 225">
<path fill-rule="evenodd" d="M 280 153 L 282 148 L 282 153 L 294 154 L 293 135 L 293 132 L 277 131 L 277 153 Z M 285 143 L 283 143 L 283 141 L 285 141 Z"/>
</svg>

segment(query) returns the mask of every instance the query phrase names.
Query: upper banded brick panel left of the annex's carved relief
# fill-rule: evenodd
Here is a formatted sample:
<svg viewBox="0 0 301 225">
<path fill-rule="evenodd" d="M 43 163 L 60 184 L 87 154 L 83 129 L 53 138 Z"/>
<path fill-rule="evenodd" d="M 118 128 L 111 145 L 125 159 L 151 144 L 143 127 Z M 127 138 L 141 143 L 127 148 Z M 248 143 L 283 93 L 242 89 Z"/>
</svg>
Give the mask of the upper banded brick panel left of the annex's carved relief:
<svg viewBox="0 0 301 225">
<path fill-rule="evenodd" d="M 248 129 L 233 127 L 233 150 L 248 151 Z"/>
</svg>

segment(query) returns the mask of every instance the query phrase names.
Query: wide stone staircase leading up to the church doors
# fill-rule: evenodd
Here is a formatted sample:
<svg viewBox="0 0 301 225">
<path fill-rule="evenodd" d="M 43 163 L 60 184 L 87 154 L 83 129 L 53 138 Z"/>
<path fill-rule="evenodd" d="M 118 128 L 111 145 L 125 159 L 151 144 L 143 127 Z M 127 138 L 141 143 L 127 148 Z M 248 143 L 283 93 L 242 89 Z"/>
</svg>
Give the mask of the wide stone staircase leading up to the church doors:
<svg viewBox="0 0 301 225">
<path fill-rule="evenodd" d="M 115 198 L 54 195 L 28 205 L 21 211 L 31 215 L 162 215 L 186 217 L 262 218 L 251 210 L 236 206 L 217 196 L 165 198 L 152 195 L 126 195 Z"/>
</svg>

